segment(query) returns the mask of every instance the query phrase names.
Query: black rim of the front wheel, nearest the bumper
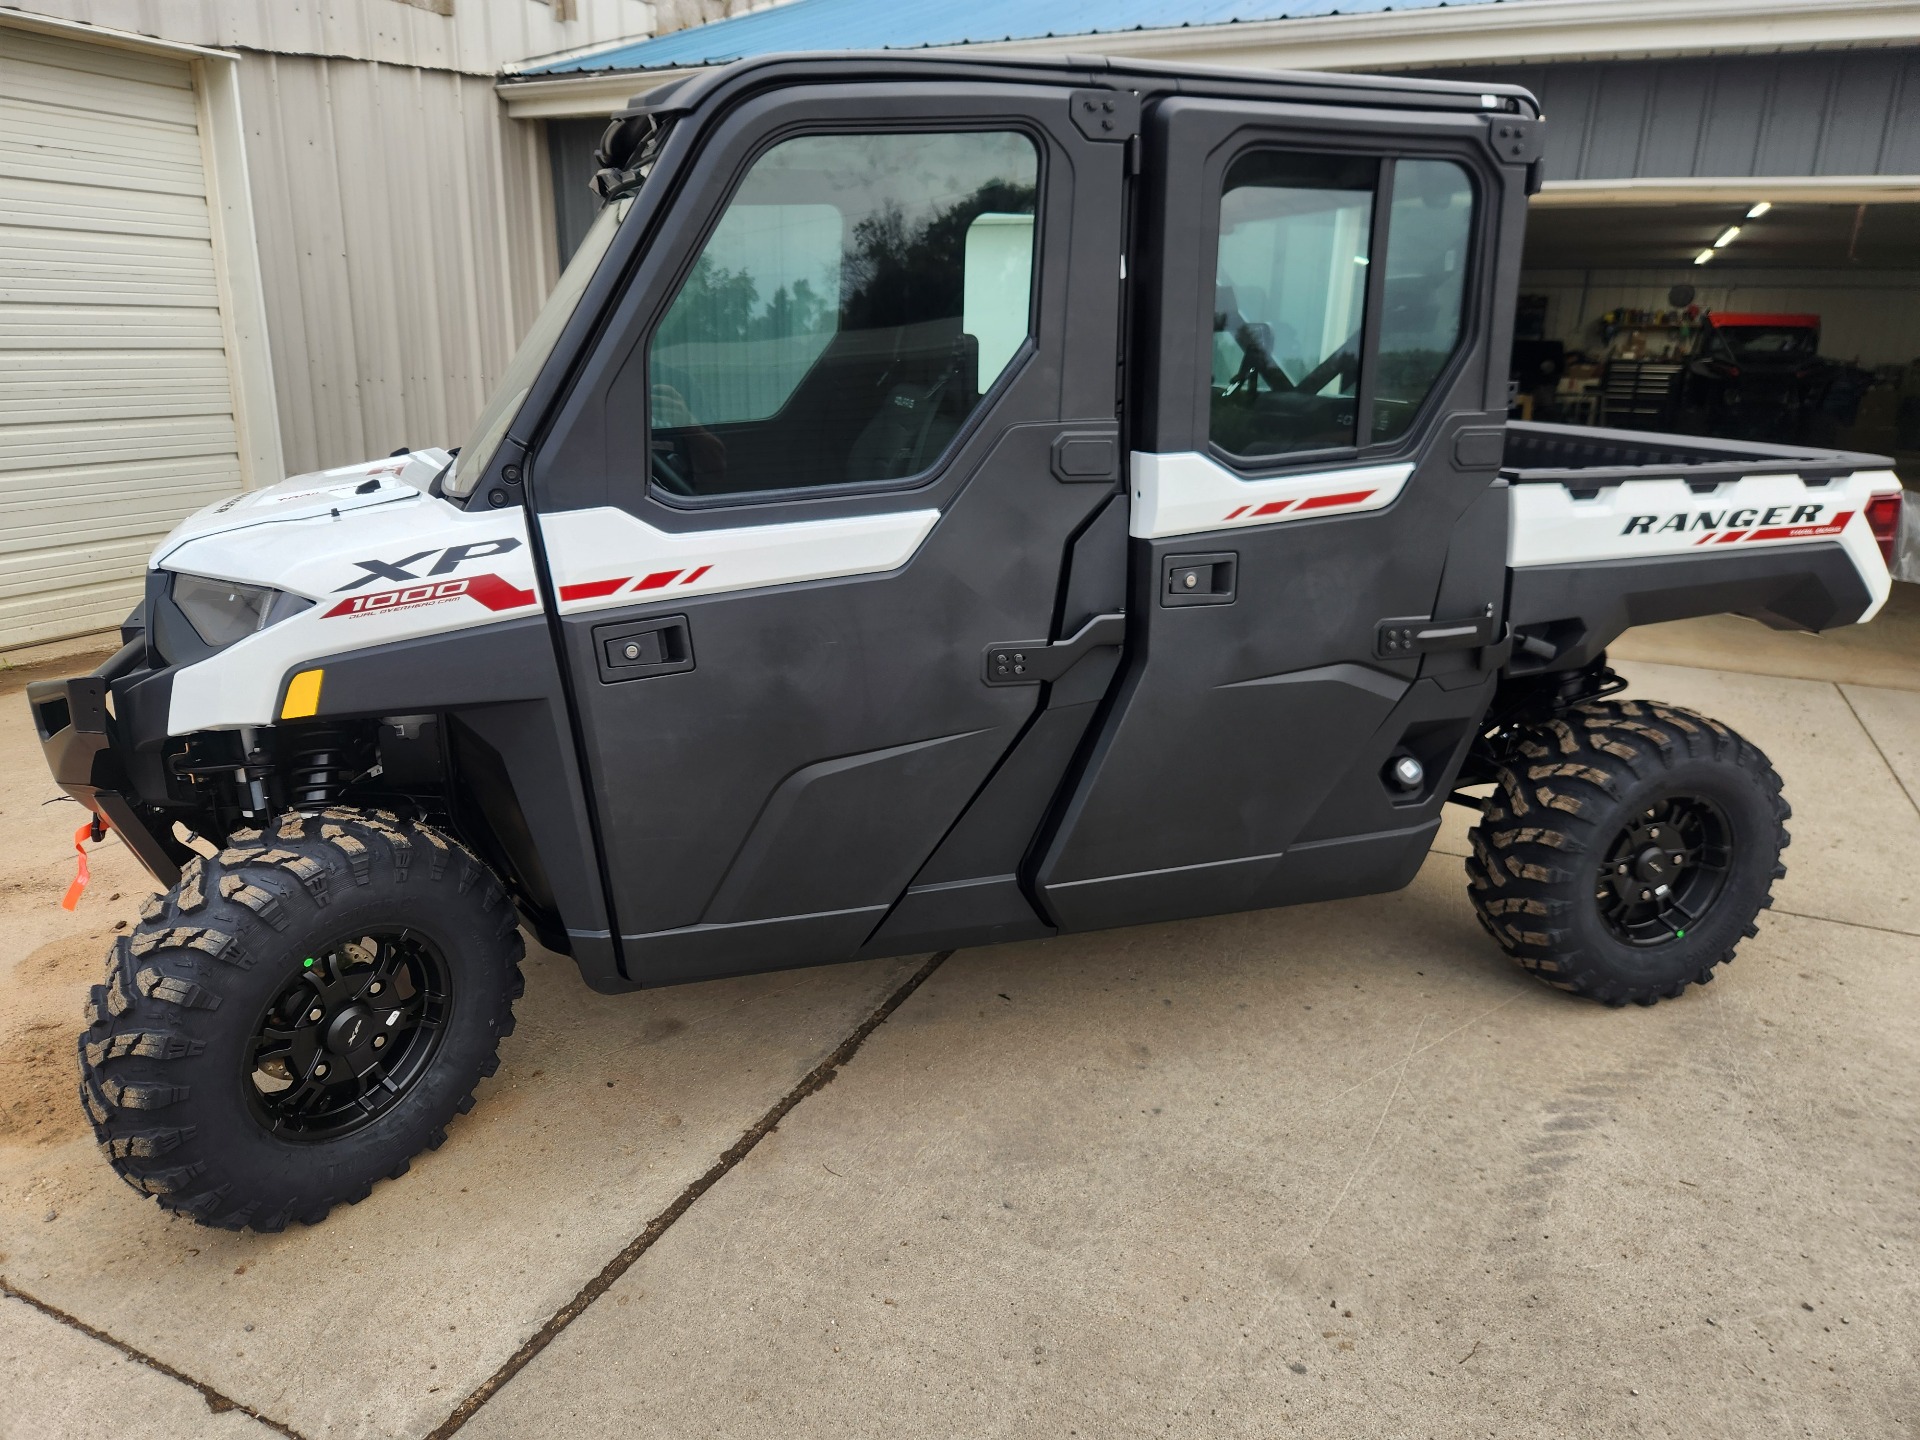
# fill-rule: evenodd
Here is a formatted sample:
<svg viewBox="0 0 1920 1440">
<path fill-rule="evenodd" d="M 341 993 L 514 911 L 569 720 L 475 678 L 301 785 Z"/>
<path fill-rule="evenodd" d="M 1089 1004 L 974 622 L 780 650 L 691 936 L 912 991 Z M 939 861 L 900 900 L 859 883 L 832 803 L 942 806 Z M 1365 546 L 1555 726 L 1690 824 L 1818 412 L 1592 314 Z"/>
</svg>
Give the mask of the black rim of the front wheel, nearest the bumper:
<svg viewBox="0 0 1920 1440">
<path fill-rule="evenodd" d="M 386 1114 L 426 1073 L 453 993 L 413 929 L 365 929 L 309 950 L 248 1043 L 246 1094 L 288 1140 L 332 1140 Z"/>
</svg>

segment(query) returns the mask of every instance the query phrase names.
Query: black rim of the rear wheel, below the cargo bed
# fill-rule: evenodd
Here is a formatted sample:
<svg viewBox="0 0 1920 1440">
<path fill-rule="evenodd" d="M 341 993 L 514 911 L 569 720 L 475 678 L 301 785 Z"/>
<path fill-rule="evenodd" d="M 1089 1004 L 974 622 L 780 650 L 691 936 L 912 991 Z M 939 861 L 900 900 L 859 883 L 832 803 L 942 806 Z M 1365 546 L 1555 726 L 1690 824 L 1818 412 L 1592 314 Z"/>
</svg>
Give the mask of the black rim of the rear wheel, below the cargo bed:
<svg viewBox="0 0 1920 1440">
<path fill-rule="evenodd" d="M 1599 866 L 1594 899 L 1607 929 L 1638 948 L 1684 941 L 1726 889 L 1732 845 L 1726 814 L 1701 795 L 1642 806 Z"/>
</svg>

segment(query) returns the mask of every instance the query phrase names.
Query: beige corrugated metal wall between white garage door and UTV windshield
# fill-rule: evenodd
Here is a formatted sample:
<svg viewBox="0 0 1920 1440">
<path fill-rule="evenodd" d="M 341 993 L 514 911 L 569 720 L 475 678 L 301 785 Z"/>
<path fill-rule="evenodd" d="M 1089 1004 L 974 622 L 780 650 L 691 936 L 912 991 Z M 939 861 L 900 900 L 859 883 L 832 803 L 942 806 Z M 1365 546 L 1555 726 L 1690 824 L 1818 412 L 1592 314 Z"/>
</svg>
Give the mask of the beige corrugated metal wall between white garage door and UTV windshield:
<svg viewBox="0 0 1920 1440">
<path fill-rule="evenodd" d="M 553 267 L 538 127 L 451 71 L 250 54 L 240 90 L 288 470 L 461 444 Z"/>
</svg>

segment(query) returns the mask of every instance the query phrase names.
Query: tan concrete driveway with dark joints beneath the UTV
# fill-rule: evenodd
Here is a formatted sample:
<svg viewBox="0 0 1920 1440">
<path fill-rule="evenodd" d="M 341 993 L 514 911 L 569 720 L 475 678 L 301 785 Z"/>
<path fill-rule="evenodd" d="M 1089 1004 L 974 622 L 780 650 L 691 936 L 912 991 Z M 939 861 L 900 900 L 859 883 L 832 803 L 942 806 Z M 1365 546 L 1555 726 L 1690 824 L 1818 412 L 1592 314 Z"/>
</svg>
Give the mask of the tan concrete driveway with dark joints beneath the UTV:
<svg viewBox="0 0 1920 1440">
<path fill-rule="evenodd" d="M 0 1436 L 1920 1434 L 1920 678 L 1622 670 L 1795 806 L 1678 1002 L 1511 968 L 1465 818 L 1365 900 L 622 998 L 534 952 L 447 1146 L 276 1236 L 94 1154 L 144 887 L 58 908 L 0 697 Z"/>
</svg>

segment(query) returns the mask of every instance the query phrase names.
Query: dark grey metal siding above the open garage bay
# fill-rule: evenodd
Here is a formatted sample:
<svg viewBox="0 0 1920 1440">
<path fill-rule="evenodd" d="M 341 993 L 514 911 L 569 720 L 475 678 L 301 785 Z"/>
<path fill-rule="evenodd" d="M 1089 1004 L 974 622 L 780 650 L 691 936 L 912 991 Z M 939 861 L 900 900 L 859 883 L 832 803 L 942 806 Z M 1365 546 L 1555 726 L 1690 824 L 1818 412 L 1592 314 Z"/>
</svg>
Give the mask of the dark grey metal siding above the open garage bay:
<svg viewBox="0 0 1920 1440">
<path fill-rule="evenodd" d="M 1920 175 L 1920 50 L 1428 71 L 1524 84 L 1549 180 Z"/>
</svg>

